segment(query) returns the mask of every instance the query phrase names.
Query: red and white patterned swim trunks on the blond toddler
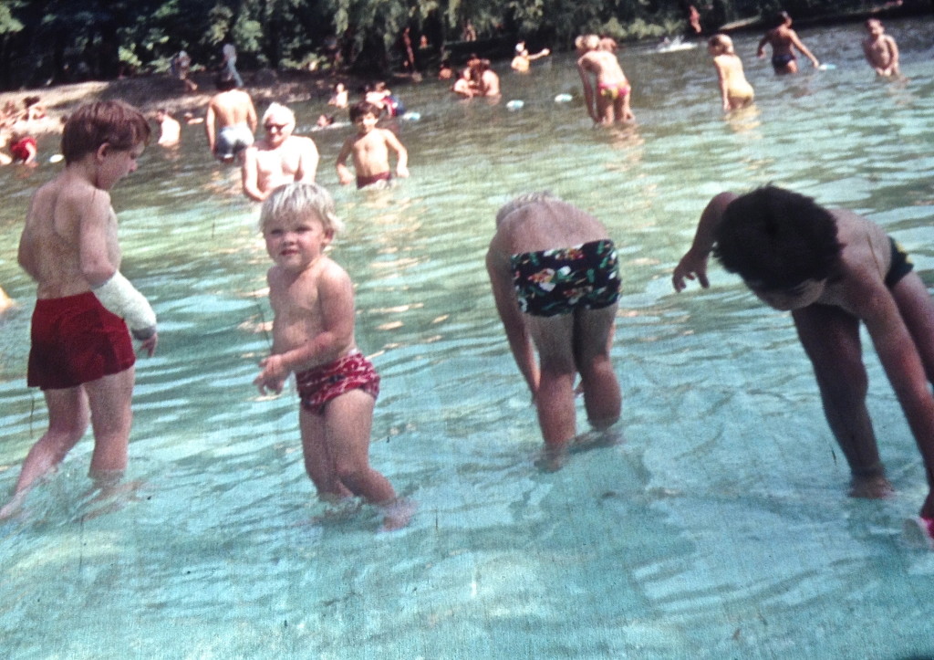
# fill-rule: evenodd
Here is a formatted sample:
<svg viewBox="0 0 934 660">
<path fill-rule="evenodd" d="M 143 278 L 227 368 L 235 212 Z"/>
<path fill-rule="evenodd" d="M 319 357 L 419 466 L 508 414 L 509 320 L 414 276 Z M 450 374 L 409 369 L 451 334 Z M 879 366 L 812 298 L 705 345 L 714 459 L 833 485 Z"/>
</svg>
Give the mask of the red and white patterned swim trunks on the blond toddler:
<svg viewBox="0 0 934 660">
<path fill-rule="evenodd" d="M 379 374 L 361 352 L 337 358 L 330 365 L 316 366 L 295 374 L 302 408 L 320 415 L 333 398 L 351 390 L 362 390 L 373 398 L 379 395 Z"/>
</svg>

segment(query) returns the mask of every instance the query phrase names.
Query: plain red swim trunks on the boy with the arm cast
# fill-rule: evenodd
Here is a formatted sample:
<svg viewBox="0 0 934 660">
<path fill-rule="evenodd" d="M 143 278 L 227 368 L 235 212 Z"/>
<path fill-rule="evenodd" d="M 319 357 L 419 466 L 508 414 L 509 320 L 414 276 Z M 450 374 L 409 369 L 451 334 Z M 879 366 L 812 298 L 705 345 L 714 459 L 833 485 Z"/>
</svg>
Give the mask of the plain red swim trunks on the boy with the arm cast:
<svg viewBox="0 0 934 660">
<path fill-rule="evenodd" d="M 31 336 L 26 383 L 42 390 L 78 387 L 136 362 L 126 323 L 90 291 L 36 300 Z"/>
</svg>

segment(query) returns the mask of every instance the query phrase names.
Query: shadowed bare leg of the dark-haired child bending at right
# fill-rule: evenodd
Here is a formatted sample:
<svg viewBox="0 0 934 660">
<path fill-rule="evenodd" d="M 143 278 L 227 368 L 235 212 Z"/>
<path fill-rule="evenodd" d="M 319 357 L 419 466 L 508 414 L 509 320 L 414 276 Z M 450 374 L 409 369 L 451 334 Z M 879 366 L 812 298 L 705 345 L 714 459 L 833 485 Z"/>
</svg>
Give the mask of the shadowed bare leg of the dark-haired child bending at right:
<svg viewBox="0 0 934 660">
<path fill-rule="evenodd" d="M 866 393 L 869 379 L 862 361 L 859 321 L 842 309 L 822 305 L 792 312 L 804 351 L 814 366 L 824 413 L 853 475 L 850 495 L 884 497 L 885 479 L 872 430 Z"/>
</svg>

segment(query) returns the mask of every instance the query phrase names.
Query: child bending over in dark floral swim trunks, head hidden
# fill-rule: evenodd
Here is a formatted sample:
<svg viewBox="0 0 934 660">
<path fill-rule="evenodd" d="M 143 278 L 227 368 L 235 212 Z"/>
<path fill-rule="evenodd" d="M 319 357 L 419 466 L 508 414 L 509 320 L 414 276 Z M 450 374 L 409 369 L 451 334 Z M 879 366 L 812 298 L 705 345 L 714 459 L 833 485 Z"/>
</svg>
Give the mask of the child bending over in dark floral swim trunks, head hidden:
<svg viewBox="0 0 934 660">
<path fill-rule="evenodd" d="M 619 297 L 616 248 L 593 216 L 549 193 L 525 194 L 497 213 L 487 271 L 509 348 L 538 412 L 546 457 L 558 467 L 577 433 L 578 373 L 591 426 L 602 430 L 619 419 L 610 360 Z"/>
</svg>

